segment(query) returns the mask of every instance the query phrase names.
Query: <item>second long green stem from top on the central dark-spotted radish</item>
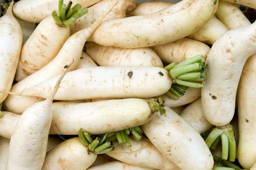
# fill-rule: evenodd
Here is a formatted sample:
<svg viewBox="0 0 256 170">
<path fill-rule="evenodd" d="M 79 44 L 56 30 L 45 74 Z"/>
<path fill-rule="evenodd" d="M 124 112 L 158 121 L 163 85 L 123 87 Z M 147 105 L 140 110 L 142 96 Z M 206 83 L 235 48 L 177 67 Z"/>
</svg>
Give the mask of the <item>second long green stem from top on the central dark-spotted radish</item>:
<svg viewBox="0 0 256 170">
<path fill-rule="evenodd" d="M 181 66 L 181 67 L 174 67 L 169 72 L 172 78 L 176 78 L 184 73 L 191 72 L 197 69 L 200 69 L 199 63 L 194 63 L 194 64 Z"/>
</svg>

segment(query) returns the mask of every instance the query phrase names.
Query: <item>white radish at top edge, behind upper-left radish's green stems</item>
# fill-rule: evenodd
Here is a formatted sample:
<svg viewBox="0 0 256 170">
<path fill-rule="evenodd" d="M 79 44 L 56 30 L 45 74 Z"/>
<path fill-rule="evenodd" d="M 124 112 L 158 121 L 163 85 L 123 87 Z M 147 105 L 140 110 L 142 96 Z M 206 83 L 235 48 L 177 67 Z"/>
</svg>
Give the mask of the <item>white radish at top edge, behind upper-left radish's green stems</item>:
<svg viewBox="0 0 256 170">
<path fill-rule="evenodd" d="M 64 4 L 67 4 L 68 1 L 64 0 Z M 72 0 L 73 5 L 80 3 L 82 8 L 91 6 L 99 1 L 101 0 Z M 13 8 L 15 17 L 30 23 L 41 22 L 44 18 L 51 16 L 53 11 L 58 13 L 57 0 L 20 0 Z"/>
</svg>

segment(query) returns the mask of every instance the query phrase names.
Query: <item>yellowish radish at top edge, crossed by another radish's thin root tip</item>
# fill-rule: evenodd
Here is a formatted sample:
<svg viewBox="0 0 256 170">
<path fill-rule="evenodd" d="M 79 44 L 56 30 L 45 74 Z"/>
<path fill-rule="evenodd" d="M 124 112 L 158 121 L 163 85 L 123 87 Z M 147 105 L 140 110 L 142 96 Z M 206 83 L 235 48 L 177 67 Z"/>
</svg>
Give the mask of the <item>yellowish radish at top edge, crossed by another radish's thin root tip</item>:
<svg viewBox="0 0 256 170">
<path fill-rule="evenodd" d="M 101 14 L 104 13 L 106 8 L 113 3 L 114 0 L 102 0 L 95 5 L 88 8 L 88 13 L 78 19 L 70 25 L 71 34 L 76 33 L 86 27 L 89 27 Z M 126 17 L 127 11 L 130 11 L 136 7 L 135 0 L 118 0 L 116 6 L 111 10 L 111 12 L 103 19 L 110 20 L 115 18 Z"/>
</svg>

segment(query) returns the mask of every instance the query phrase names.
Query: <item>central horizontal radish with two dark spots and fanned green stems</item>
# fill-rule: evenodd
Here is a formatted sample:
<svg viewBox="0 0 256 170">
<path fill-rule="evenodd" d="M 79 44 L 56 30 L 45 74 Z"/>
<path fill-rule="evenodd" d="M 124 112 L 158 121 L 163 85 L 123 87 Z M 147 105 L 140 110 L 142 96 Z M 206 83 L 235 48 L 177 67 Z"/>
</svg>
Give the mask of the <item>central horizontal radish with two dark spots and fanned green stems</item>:
<svg viewBox="0 0 256 170">
<path fill-rule="evenodd" d="M 204 64 L 202 55 L 197 55 L 179 64 L 171 63 L 165 68 L 135 66 L 81 68 L 65 76 L 55 100 L 150 98 L 164 93 L 177 100 L 185 94 L 188 86 L 197 88 L 203 86 L 192 81 L 204 80 Z M 57 77 L 25 88 L 19 93 L 9 93 L 46 98 Z"/>
</svg>

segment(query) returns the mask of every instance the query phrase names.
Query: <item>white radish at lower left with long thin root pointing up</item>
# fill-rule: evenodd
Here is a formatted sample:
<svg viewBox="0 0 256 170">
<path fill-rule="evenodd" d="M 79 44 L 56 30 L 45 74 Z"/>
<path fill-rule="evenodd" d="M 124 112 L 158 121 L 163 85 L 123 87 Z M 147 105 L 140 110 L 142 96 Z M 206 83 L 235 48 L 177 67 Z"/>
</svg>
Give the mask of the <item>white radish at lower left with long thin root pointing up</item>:
<svg viewBox="0 0 256 170">
<path fill-rule="evenodd" d="M 53 98 L 67 70 L 66 65 L 46 100 L 35 103 L 20 116 L 10 140 L 6 170 L 41 170 L 53 118 Z"/>
</svg>

